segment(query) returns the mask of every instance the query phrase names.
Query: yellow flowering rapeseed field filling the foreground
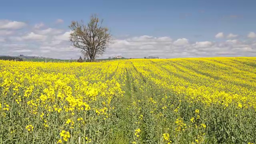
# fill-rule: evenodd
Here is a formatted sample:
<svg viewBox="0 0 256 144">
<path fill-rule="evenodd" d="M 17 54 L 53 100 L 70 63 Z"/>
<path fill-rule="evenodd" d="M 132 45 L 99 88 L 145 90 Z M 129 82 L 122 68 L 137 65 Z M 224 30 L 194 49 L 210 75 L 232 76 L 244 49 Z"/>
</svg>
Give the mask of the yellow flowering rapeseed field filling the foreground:
<svg viewBox="0 0 256 144">
<path fill-rule="evenodd" d="M 0 143 L 256 144 L 256 58 L 0 60 Z"/>
</svg>

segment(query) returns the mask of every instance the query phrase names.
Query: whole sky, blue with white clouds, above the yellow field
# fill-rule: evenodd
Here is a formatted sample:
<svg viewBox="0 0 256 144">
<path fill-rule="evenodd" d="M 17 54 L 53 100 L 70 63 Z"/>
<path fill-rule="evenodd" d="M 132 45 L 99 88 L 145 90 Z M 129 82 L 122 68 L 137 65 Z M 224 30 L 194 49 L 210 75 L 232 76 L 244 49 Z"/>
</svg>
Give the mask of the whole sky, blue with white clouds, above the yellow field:
<svg viewBox="0 0 256 144">
<path fill-rule="evenodd" d="M 71 22 L 104 19 L 113 43 L 98 58 L 256 56 L 255 0 L 4 0 L 0 55 L 77 59 Z"/>
</svg>

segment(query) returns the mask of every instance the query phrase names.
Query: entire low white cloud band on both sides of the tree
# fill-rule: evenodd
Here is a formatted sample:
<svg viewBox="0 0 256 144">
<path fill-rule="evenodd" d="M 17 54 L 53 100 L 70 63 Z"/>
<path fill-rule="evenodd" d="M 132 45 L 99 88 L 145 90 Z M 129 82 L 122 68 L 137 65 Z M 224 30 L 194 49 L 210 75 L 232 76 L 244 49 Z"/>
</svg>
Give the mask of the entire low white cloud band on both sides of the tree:
<svg viewBox="0 0 256 144">
<path fill-rule="evenodd" d="M 5 25 L 12 21 L 5 21 Z M 3 22 L 1 26 L 4 26 Z M 28 29 L 0 30 L 1 55 L 24 54 L 29 56 L 44 56 L 60 59 L 77 59 L 82 56 L 78 48 L 70 46 L 69 37 L 72 31 L 54 28 L 44 28 L 44 23 L 38 23 Z M 18 28 L 16 26 L 16 28 Z M 193 35 L 192 35 L 193 36 Z M 201 36 L 201 35 L 198 35 Z M 224 38 L 223 32 L 216 38 Z M 182 57 L 215 57 L 215 56 L 256 56 L 256 41 L 240 40 L 237 34 L 227 34 L 228 40 L 200 40 L 196 35 L 192 40 L 187 38 L 172 39 L 169 36 L 121 36 L 115 37 L 106 53 L 99 58 L 122 55 L 126 58 L 143 58 L 158 56 L 160 58 Z M 254 32 L 248 38 L 256 38 Z"/>
</svg>

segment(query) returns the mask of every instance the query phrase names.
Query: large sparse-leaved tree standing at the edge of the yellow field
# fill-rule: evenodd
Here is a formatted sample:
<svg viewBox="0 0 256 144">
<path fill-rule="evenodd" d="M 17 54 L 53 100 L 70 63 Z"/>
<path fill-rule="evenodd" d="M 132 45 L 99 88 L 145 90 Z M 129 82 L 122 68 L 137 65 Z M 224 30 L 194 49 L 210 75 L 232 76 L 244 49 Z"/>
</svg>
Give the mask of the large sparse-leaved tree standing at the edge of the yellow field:
<svg viewBox="0 0 256 144">
<path fill-rule="evenodd" d="M 72 21 L 69 26 L 70 41 L 72 46 L 79 48 L 80 51 L 90 58 L 92 62 L 96 56 L 101 56 L 106 52 L 111 37 L 108 28 L 102 26 L 102 20 L 92 15 L 90 22 L 84 24 L 83 20 L 80 22 Z"/>
</svg>

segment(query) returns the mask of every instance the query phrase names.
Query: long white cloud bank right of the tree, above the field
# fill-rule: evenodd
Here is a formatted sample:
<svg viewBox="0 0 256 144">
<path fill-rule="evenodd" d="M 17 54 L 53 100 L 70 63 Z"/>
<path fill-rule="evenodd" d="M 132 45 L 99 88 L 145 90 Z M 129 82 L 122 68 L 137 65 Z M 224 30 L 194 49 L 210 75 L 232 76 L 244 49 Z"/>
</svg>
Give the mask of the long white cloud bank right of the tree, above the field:
<svg viewBox="0 0 256 144">
<path fill-rule="evenodd" d="M 160 58 L 255 56 L 253 52 L 256 50 L 256 44 L 252 46 L 251 42 L 240 42 L 239 40 L 192 43 L 186 38 L 180 38 L 174 42 L 165 43 L 159 41 L 161 38 L 152 36 L 138 38 L 115 40 L 115 43 L 107 49 L 107 53 L 102 58 L 120 54 L 126 58 L 143 58 L 150 55 Z"/>
</svg>

